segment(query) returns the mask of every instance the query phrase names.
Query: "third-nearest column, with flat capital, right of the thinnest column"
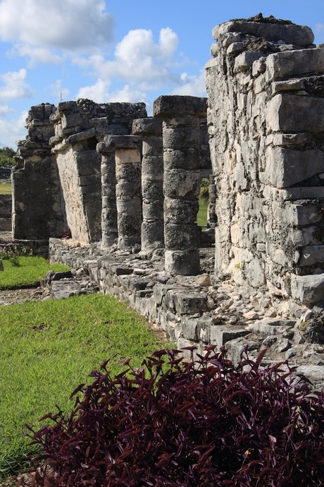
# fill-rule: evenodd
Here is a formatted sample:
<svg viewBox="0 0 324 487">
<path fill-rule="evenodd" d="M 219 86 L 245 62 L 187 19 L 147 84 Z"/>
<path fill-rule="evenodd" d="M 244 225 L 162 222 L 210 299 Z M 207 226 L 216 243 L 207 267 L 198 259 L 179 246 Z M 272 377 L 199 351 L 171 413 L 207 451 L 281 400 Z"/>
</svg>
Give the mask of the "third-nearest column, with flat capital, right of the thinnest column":
<svg viewBox="0 0 324 487">
<path fill-rule="evenodd" d="M 140 244 L 142 225 L 141 151 L 137 136 L 106 136 L 106 148 L 115 150 L 118 248 Z"/>
</svg>

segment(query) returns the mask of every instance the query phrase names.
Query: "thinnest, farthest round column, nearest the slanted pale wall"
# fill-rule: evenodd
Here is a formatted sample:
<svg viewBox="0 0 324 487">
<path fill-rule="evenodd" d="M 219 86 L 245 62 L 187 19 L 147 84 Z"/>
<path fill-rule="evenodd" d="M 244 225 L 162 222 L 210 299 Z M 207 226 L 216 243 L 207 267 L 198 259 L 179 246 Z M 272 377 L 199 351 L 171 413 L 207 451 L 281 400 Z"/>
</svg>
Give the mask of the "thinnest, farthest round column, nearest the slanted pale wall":
<svg viewBox="0 0 324 487">
<path fill-rule="evenodd" d="M 101 154 L 101 248 L 107 248 L 116 243 L 117 205 L 116 205 L 116 162 L 115 150 L 99 142 L 96 151 Z"/>
</svg>

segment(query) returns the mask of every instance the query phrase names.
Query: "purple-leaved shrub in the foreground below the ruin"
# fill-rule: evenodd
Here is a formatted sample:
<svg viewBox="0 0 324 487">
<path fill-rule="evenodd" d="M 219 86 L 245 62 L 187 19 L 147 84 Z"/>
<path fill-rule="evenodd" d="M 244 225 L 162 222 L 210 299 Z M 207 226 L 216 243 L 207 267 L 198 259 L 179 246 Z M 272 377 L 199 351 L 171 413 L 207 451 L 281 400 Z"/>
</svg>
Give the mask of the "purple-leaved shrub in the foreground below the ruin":
<svg viewBox="0 0 324 487">
<path fill-rule="evenodd" d="M 44 451 L 37 485 L 324 485 L 323 393 L 294 387 L 287 363 L 261 368 L 262 354 L 235 367 L 224 349 L 190 363 L 177 353 L 127 361 L 115 378 L 106 362 L 73 392 L 72 414 L 29 427 Z"/>
</svg>

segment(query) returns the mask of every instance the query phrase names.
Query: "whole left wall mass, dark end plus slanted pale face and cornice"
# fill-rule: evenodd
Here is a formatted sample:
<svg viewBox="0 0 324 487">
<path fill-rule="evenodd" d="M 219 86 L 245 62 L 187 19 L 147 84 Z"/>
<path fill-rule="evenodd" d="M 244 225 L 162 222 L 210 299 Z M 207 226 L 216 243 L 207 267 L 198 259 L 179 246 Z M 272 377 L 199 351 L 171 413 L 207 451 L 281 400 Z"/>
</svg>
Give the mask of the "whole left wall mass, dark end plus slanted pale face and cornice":
<svg viewBox="0 0 324 487">
<path fill-rule="evenodd" d="M 130 134 L 144 103 L 91 100 L 32 107 L 13 172 L 13 236 L 46 239 L 67 229 L 82 244 L 101 240 L 101 155 L 107 134 Z"/>
</svg>

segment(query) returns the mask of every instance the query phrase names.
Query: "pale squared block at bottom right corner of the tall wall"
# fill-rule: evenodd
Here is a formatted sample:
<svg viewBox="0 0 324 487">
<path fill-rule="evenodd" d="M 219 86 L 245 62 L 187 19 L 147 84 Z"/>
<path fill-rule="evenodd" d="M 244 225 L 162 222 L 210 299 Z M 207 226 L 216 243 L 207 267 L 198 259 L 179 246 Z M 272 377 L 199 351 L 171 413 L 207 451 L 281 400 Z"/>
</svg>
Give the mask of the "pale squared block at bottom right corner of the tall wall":
<svg viewBox="0 0 324 487">
<path fill-rule="evenodd" d="M 324 299 L 324 273 L 315 275 L 292 275 L 292 298 L 303 304 Z"/>
</svg>

